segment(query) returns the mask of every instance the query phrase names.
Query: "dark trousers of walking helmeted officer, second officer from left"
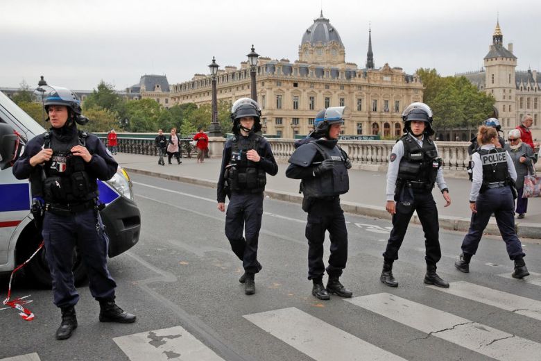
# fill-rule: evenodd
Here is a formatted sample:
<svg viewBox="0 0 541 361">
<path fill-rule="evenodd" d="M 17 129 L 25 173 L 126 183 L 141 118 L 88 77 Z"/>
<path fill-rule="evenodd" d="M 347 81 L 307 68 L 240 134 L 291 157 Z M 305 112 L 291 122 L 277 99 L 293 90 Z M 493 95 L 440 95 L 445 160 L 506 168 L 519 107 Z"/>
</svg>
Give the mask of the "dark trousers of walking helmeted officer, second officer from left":
<svg viewBox="0 0 541 361">
<path fill-rule="evenodd" d="M 263 217 L 263 192 L 232 192 L 225 215 L 225 236 L 247 273 L 257 274 L 257 243 Z M 242 236 L 244 232 L 245 237 Z"/>
</svg>

